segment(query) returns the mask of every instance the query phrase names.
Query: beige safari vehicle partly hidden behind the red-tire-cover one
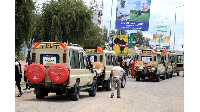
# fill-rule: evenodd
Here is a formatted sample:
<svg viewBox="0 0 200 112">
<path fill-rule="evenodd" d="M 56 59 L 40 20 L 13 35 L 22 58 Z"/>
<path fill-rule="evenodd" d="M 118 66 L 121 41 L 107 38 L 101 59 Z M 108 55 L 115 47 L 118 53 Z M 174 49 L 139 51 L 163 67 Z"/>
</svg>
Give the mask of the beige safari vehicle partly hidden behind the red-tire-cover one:
<svg viewBox="0 0 200 112">
<path fill-rule="evenodd" d="M 116 54 L 112 50 L 103 50 L 102 47 L 84 47 L 86 54 L 90 56 L 91 63 L 100 62 L 103 65 L 101 73 L 98 73 L 94 66 L 93 70 L 96 73 L 97 85 L 104 87 L 107 91 L 111 90 L 112 74 L 111 70 L 116 65 Z M 124 88 L 126 84 L 126 76 L 121 80 L 121 87 Z"/>
</svg>

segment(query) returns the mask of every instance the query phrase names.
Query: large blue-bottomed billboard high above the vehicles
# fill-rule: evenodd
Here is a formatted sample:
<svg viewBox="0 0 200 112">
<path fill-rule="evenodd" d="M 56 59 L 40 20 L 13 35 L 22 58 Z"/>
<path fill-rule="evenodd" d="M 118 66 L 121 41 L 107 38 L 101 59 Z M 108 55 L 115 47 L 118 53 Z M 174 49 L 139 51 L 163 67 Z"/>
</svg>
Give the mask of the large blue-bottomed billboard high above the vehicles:
<svg viewBox="0 0 200 112">
<path fill-rule="evenodd" d="M 117 0 L 115 29 L 148 31 L 151 0 Z"/>
</svg>

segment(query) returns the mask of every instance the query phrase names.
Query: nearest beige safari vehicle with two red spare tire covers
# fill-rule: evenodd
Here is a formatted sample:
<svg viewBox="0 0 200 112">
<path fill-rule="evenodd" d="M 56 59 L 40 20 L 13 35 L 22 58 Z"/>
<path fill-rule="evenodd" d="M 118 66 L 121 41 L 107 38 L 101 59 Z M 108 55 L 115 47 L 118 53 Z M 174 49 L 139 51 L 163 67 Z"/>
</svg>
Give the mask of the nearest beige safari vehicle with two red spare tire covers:
<svg viewBox="0 0 200 112">
<path fill-rule="evenodd" d="M 87 90 L 95 96 L 97 90 L 95 74 L 85 67 L 86 54 L 79 45 L 60 42 L 33 43 L 31 64 L 27 68 L 27 78 L 37 99 L 48 93 L 71 95 L 79 99 L 80 90 Z"/>
</svg>

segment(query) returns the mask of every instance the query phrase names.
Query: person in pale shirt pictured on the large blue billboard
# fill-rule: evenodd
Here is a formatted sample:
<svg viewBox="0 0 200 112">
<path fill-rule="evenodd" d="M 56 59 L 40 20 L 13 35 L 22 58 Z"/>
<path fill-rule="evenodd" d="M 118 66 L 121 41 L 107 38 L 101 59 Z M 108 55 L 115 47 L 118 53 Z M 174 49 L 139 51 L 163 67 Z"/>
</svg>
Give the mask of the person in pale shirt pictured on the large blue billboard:
<svg viewBox="0 0 200 112">
<path fill-rule="evenodd" d="M 121 21 L 130 21 L 130 9 L 125 7 L 125 0 L 121 0 L 121 8 L 117 7 L 117 18 L 119 18 Z"/>
</svg>

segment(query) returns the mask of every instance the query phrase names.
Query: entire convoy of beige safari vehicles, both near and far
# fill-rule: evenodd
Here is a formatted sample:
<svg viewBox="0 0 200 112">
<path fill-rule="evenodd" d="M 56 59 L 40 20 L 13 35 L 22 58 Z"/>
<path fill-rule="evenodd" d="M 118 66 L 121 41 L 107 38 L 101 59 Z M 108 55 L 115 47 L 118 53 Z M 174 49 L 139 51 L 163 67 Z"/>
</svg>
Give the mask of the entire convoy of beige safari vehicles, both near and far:
<svg viewBox="0 0 200 112">
<path fill-rule="evenodd" d="M 79 99 L 80 91 L 88 91 L 95 96 L 97 87 L 111 90 L 111 70 L 116 65 L 117 56 L 112 50 L 102 47 L 83 48 L 77 44 L 60 42 L 33 43 L 26 76 L 29 85 L 35 88 L 37 99 L 48 93 L 70 95 L 72 100 Z M 136 55 L 136 81 L 145 77 L 157 82 L 173 77 L 183 71 L 183 54 L 166 50 L 141 50 Z M 126 84 L 126 75 L 121 79 L 121 87 Z"/>
</svg>

